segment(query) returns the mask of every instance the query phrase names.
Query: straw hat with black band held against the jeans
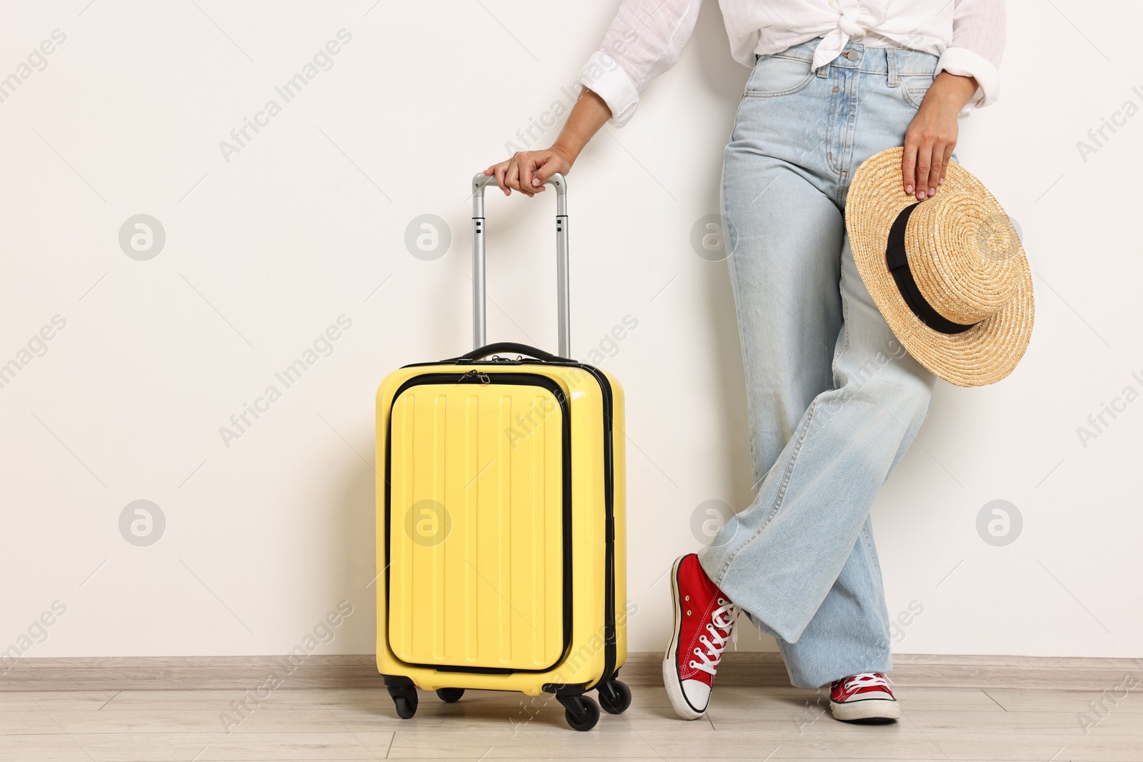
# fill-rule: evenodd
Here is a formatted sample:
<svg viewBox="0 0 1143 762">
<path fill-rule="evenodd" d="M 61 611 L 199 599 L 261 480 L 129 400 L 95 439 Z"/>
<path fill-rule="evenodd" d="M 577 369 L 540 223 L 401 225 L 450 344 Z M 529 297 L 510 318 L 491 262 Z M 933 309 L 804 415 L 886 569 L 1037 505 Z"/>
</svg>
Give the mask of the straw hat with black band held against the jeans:
<svg viewBox="0 0 1143 762">
<path fill-rule="evenodd" d="M 958 386 L 998 382 L 1032 336 L 1032 273 L 1020 236 L 956 162 L 937 194 L 918 202 L 901 186 L 901 152 L 870 157 L 849 185 L 846 230 L 857 271 L 922 366 Z"/>
</svg>

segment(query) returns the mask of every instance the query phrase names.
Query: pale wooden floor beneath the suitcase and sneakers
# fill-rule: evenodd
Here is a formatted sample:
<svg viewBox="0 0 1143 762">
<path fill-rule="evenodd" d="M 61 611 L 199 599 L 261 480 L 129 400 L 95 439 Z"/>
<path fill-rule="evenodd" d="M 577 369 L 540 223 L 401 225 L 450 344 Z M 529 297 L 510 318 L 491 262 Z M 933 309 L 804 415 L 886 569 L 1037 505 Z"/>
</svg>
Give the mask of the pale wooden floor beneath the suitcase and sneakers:
<svg viewBox="0 0 1143 762">
<path fill-rule="evenodd" d="M 576 732 L 545 697 L 422 693 L 398 720 L 370 689 L 273 691 L 232 732 L 241 691 L 0 692 L 0 760 L 1066 760 L 1143 761 L 1137 688 L 1085 733 L 1093 691 L 902 688 L 894 725 L 847 725 L 813 691 L 722 687 L 708 716 L 676 719 L 662 687 L 636 688 L 622 716 Z M 233 714 L 237 719 L 237 714 Z"/>
</svg>

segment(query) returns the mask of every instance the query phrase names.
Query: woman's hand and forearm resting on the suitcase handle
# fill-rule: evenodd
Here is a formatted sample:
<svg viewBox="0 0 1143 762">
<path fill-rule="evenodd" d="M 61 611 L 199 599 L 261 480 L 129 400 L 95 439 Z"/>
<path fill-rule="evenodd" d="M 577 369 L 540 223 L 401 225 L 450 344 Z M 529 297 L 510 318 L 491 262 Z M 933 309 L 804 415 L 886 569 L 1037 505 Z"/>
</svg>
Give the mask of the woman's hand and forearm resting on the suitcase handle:
<svg viewBox="0 0 1143 762">
<path fill-rule="evenodd" d="M 583 146 L 588 145 L 588 141 L 610 118 L 612 110 L 604 99 L 592 90 L 583 88 L 552 147 L 546 151 L 517 153 L 507 161 L 486 169 L 485 175 L 496 176 L 496 184 L 504 191 L 504 195 L 512 195 L 512 191 L 519 191 L 530 199 L 537 193 L 543 193 L 544 181 L 549 177 L 555 173 L 566 175 L 572 169 Z"/>
</svg>

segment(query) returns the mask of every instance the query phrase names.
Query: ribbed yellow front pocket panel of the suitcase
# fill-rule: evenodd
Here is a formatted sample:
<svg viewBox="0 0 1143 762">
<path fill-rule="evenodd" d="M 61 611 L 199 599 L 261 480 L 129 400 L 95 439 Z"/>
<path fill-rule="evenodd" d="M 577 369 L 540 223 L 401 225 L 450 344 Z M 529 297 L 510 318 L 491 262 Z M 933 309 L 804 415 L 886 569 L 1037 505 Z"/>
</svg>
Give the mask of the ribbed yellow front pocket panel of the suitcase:
<svg viewBox="0 0 1143 762">
<path fill-rule="evenodd" d="M 570 633 L 566 400 L 541 376 L 422 376 L 393 401 L 389 644 L 413 665 L 549 669 Z"/>
</svg>

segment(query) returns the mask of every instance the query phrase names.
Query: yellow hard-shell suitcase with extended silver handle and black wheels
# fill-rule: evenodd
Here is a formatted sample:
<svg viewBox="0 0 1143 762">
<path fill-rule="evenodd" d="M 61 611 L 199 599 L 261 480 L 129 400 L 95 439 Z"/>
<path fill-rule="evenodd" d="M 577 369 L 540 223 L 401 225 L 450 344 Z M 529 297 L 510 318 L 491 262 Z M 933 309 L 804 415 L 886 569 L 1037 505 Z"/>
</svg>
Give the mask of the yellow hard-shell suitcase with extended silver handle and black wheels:
<svg viewBox="0 0 1143 762">
<path fill-rule="evenodd" d="M 618 714 L 626 658 L 623 390 L 567 359 L 567 182 L 557 195 L 559 354 L 485 345 L 483 191 L 473 178 L 475 350 L 377 390 L 377 669 L 417 688 L 553 693 L 568 724 Z M 511 353 L 514 356 L 509 356 Z M 527 356 L 526 356 L 527 355 Z M 525 704 L 530 719 L 545 699 Z"/>
</svg>

